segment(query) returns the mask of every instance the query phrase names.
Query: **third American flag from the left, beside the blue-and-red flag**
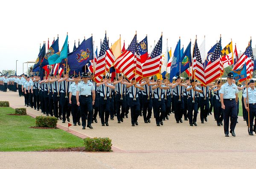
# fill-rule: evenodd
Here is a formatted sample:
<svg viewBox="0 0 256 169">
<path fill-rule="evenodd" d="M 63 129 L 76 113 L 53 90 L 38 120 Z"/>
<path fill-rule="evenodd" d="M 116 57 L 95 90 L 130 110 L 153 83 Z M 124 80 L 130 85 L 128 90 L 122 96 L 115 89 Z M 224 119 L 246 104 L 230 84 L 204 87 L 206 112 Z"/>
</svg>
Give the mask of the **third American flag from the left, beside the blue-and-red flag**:
<svg viewBox="0 0 256 169">
<path fill-rule="evenodd" d="M 158 40 L 156 46 L 153 51 L 145 61 L 142 66 L 143 77 L 154 76 L 155 74 L 159 74 L 161 70 L 161 61 L 162 61 L 162 44 L 163 44 L 163 36 L 161 35 Z"/>
</svg>

